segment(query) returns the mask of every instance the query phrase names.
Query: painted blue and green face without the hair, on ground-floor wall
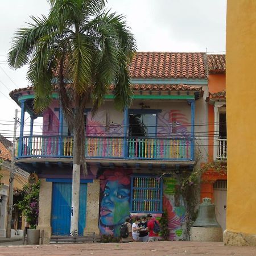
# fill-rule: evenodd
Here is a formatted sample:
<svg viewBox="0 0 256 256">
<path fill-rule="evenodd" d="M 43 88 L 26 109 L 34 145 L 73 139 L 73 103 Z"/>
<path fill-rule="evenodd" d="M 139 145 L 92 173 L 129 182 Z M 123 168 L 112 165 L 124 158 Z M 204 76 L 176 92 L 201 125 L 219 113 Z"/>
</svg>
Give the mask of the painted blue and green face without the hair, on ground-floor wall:
<svg viewBox="0 0 256 256">
<path fill-rule="evenodd" d="M 101 222 L 113 226 L 125 222 L 130 216 L 130 190 L 118 181 L 108 181 L 101 200 Z"/>
</svg>

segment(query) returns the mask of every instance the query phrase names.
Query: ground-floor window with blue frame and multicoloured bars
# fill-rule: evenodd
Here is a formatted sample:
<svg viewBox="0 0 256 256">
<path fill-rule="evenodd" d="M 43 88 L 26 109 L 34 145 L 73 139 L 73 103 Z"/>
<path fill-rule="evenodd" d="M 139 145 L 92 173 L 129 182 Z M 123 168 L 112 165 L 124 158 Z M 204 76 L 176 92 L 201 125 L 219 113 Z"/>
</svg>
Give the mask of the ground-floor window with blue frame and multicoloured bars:
<svg viewBox="0 0 256 256">
<path fill-rule="evenodd" d="M 131 177 L 131 212 L 162 213 L 162 179 Z"/>
</svg>

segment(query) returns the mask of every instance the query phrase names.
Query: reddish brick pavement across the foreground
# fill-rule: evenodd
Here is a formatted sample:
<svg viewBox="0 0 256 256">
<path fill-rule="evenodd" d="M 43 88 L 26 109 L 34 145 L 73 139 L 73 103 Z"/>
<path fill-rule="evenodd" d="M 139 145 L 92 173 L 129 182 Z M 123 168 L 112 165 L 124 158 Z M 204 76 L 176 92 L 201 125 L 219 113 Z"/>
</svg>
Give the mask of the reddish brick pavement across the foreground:
<svg viewBox="0 0 256 256">
<path fill-rule="evenodd" d="M 151 243 L 81 243 L 0 246 L 0 255 L 256 255 L 256 247 L 224 246 L 221 242 L 170 241 Z"/>
</svg>

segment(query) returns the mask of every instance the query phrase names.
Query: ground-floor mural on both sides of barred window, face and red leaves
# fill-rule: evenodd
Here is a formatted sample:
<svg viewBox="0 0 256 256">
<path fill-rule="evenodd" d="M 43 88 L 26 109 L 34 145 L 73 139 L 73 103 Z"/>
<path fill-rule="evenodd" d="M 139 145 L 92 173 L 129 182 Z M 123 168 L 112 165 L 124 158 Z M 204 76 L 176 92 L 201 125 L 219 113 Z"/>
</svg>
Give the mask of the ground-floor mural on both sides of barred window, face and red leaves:
<svg viewBox="0 0 256 256">
<path fill-rule="evenodd" d="M 95 174 L 94 170 L 94 174 Z M 100 168 L 100 214 L 99 228 L 101 234 L 119 236 L 119 228 L 130 212 L 130 183 L 132 170 Z M 163 209 L 168 213 L 170 240 L 183 240 L 183 222 L 185 208 L 182 197 L 176 192 L 179 184 L 175 177 L 163 178 Z M 142 213 L 135 214 L 142 216 Z M 133 214 L 132 217 L 135 217 Z M 159 218 L 160 214 L 156 214 Z"/>
</svg>

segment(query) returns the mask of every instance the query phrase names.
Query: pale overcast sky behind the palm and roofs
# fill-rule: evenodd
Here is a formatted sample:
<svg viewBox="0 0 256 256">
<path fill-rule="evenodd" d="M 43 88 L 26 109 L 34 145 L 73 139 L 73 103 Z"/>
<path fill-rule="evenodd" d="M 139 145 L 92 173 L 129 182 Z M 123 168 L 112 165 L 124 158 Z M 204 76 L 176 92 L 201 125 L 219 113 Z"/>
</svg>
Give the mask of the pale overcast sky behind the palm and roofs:
<svg viewBox="0 0 256 256">
<path fill-rule="evenodd" d="M 126 16 L 138 51 L 225 53 L 226 0 L 109 0 L 112 12 Z M 10 69 L 6 55 L 18 28 L 30 16 L 47 15 L 47 0 L 8 0 L 0 8 L 0 133 L 13 137 L 15 109 L 9 92 L 28 85 L 27 67 Z M 20 117 L 20 112 L 18 112 Z M 28 119 L 27 119 L 28 118 Z M 25 115 L 25 133 L 30 119 Z M 35 133 L 40 133 L 40 120 Z M 19 132 L 19 129 L 18 129 Z"/>
</svg>

